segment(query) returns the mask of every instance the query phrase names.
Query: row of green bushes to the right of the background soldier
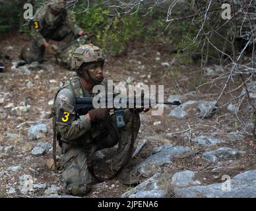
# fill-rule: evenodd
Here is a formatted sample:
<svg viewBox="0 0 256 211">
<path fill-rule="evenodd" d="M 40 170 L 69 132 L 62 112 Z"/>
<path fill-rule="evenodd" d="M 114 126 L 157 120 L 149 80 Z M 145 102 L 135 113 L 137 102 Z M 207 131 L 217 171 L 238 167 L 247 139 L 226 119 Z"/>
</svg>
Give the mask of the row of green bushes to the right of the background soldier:
<svg viewBox="0 0 256 211">
<path fill-rule="evenodd" d="M 80 9 L 80 6 L 77 9 Z M 110 9 L 102 5 L 91 6 L 86 12 L 77 11 L 76 13 L 75 10 L 79 25 L 94 34 L 94 42 L 103 49 L 108 49 L 112 55 L 125 52 L 127 44 L 135 36 L 147 42 L 170 43 L 172 41 L 174 48 L 183 49 L 191 42 L 197 30 L 195 26 L 191 26 L 189 20 L 174 22 L 166 28 L 166 11 L 157 7 L 147 15 L 145 11 L 125 16 L 111 16 L 111 14 Z M 181 39 L 181 37 L 184 38 Z M 195 48 L 196 45 L 198 47 L 195 43 L 189 49 Z"/>
</svg>

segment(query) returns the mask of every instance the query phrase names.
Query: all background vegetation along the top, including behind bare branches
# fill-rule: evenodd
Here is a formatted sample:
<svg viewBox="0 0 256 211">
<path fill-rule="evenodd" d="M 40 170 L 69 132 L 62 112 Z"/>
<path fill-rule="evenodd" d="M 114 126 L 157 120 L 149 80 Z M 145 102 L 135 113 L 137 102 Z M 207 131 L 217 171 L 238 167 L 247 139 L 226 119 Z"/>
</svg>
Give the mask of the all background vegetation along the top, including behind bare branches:
<svg viewBox="0 0 256 211">
<path fill-rule="evenodd" d="M 0 2 L 0 34 L 15 30 L 30 33 L 28 22 L 22 18 L 23 5 L 27 2 L 34 5 L 34 11 L 46 3 L 44 0 Z M 94 35 L 92 41 L 108 49 L 112 55 L 126 53 L 130 42 L 135 39 L 172 45 L 173 52 L 170 53 L 176 53 L 180 63 L 191 63 L 192 59 L 201 59 L 204 63 L 210 59 L 220 60 L 222 53 L 217 49 L 228 54 L 232 52 L 234 22 L 225 22 L 220 18 L 221 1 L 211 1 L 209 8 L 205 0 L 172 0 L 168 4 L 154 4 L 157 2 L 154 0 L 139 4 L 139 1 L 127 2 L 131 2 L 130 5 L 114 7 L 120 2 L 76 0 L 70 9 L 78 24 Z M 172 3 L 176 5 L 170 15 Z M 209 12 L 205 21 L 207 9 Z M 174 21 L 166 21 L 172 18 Z"/>
</svg>

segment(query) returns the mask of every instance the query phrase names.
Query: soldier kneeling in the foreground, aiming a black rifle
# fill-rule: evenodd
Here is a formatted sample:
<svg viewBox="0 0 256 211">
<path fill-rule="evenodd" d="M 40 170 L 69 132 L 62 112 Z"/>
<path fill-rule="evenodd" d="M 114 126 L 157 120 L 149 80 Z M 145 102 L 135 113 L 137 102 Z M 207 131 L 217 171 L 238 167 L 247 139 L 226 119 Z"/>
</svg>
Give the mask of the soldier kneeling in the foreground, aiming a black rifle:
<svg viewBox="0 0 256 211">
<path fill-rule="evenodd" d="M 85 195 L 90 190 L 91 162 L 94 152 L 118 144 L 110 169 L 112 175 L 125 185 L 138 182 L 137 176 L 125 167 L 131 161 L 133 145 L 141 125 L 137 109 L 125 109 L 125 127 L 117 128 L 115 115 L 109 109 L 91 109 L 86 115 L 74 111 L 75 97 L 94 97 L 92 88 L 102 84 L 108 88 L 103 77 L 104 54 L 92 44 L 75 50 L 72 67 L 77 76 L 66 80 L 57 92 L 53 104 L 53 131 L 64 154 L 63 181 L 73 195 Z"/>
</svg>

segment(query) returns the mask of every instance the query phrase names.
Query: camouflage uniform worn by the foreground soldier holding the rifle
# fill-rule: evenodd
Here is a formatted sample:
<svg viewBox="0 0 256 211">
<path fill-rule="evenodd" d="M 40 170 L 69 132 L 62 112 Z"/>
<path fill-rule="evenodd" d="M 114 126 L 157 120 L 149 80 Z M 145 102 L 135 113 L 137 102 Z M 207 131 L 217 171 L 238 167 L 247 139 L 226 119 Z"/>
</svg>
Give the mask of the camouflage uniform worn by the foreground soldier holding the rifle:
<svg viewBox="0 0 256 211">
<path fill-rule="evenodd" d="M 107 90 L 105 80 L 101 84 Z M 112 160 L 112 169 L 118 171 L 131 160 L 133 144 L 141 123 L 139 113 L 130 109 L 125 109 L 126 126 L 121 129 L 117 129 L 113 114 L 108 115 L 104 121 L 90 123 L 85 115 L 75 115 L 75 97 L 94 97 L 83 88 L 79 76 L 67 80 L 55 98 L 56 129 L 64 154 L 65 187 L 73 195 L 85 195 L 92 183 L 92 175 L 86 163 L 88 158 L 97 150 L 110 148 L 118 143 Z M 64 112 L 70 115 L 67 117 Z"/>
</svg>

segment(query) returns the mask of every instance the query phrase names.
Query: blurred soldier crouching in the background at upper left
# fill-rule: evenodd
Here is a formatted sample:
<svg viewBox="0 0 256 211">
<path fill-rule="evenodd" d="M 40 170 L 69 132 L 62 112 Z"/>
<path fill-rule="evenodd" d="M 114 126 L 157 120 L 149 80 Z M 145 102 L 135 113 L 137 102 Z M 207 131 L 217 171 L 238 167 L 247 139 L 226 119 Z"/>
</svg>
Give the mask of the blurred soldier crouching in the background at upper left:
<svg viewBox="0 0 256 211">
<path fill-rule="evenodd" d="M 86 34 L 77 26 L 75 16 L 67 9 L 68 1 L 48 0 L 46 5 L 36 11 L 33 18 L 34 27 L 31 33 L 29 47 L 22 47 L 21 59 L 28 63 L 33 61 L 43 62 L 46 49 L 55 51 L 55 45 L 50 45 L 49 40 L 70 44 L 78 36 Z"/>
</svg>

